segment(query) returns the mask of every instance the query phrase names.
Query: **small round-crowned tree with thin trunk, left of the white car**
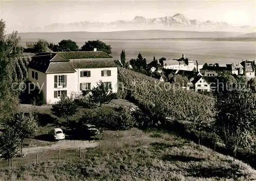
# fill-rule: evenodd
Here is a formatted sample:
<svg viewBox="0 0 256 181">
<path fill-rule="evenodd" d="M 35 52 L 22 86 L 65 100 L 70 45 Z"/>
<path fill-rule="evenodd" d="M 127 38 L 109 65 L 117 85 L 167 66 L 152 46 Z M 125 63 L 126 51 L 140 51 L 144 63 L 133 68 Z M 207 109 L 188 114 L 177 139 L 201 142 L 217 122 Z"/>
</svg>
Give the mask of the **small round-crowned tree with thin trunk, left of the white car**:
<svg viewBox="0 0 256 181">
<path fill-rule="evenodd" d="M 6 125 L 16 131 L 16 135 L 21 142 L 21 153 L 23 153 L 24 140 L 34 138 L 38 131 L 38 125 L 34 115 L 31 113 L 28 115 L 25 115 L 24 113 L 16 114 L 13 119 L 7 121 Z"/>
</svg>

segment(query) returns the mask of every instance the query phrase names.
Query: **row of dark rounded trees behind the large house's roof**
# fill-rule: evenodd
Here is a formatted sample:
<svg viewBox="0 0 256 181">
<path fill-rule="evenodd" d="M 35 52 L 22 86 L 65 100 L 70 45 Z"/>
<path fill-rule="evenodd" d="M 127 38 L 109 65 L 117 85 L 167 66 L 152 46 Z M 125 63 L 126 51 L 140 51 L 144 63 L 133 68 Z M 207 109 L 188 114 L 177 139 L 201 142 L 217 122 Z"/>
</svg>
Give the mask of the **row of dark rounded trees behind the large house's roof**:
<svg viewBox="0 0 256 181">
<path fill-rule="evenodd" d="M 38 39 L 37 42 L 27 42 L 26 45 L 27 49 L 25 49 L 25 52 L 31 53 L 47 52 L 49 49 L 53 52 L 94 51 L 94 48 L 97 48 L 97 51 L 111 54 L 111 46 L 100 40 L 86 41 L 80 49 L 77 43 L 71 39 L 63 39 L 58 44 Z"/>
</svg>

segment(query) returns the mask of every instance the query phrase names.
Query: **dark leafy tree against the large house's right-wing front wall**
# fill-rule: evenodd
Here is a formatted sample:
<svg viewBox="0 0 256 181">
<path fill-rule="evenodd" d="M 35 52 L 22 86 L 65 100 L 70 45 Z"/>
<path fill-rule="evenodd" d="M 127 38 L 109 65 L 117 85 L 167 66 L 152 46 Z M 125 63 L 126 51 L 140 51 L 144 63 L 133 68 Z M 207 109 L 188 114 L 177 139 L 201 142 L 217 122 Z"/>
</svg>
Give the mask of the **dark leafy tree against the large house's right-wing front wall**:
<svg viewBox="0 0 256 181">
<path fill-rule="evenodd" d="M 108 104 L 112 99 L 115 98 L 115 94 L 112 92 L 112 87 L 110 85 L 106 85 L 104 82 L 97 82 L 97 86 L 92 90 L 89 90 L 86 95 L 88 95 L 88 99 L 90 102 L 98 103 L 99 107 L 102 104 Z"/>
</svg>

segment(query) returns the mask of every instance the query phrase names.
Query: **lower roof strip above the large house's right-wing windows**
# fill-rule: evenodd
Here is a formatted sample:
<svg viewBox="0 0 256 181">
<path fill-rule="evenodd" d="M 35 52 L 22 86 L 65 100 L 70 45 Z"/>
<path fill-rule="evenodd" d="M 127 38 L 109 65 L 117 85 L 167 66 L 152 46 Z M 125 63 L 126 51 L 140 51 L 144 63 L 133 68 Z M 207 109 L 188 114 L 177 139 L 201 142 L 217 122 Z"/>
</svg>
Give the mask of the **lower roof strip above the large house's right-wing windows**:
<svg viewBox="0 0 256 181">
<path fill-rule="evenodd" d="M 112 58 L 73 59 L 70 60 L 70 64 L 74 69 L 117 67 Z"/>
</svg>

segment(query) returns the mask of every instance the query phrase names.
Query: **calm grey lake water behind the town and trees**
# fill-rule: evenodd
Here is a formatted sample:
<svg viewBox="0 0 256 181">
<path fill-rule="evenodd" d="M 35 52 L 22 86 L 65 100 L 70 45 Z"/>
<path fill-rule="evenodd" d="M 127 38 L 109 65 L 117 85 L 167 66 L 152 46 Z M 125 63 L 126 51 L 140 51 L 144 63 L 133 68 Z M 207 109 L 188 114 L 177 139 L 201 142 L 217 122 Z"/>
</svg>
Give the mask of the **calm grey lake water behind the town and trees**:
<svg viewBox="0 0 256 181">
<path fill-rule="evenodd" d="M 139 53 L 151 62 L 166 57 L 178 59 L 185 54 L 188 59 L 198 60 L 200 64 L 207 63 L 240 63 L 242 60 L 256 59 L 255 41 L 202 41 L 202 40 L 104 40 L 112 47 L 114 59 L 120 58 L 124 49 L 126 60 L 136 58 Z M 22 39 L 21 44 L 25 45 L 26 40 Z M 37 41 L 37 40 L 34 40 Z M 53 42 L 47 39 L 48 42 Z M 75 40 L 81 47 L 87 39 Z M 58 41 L 53 42 L 58 43 Z"/>
</svg>

